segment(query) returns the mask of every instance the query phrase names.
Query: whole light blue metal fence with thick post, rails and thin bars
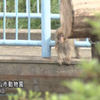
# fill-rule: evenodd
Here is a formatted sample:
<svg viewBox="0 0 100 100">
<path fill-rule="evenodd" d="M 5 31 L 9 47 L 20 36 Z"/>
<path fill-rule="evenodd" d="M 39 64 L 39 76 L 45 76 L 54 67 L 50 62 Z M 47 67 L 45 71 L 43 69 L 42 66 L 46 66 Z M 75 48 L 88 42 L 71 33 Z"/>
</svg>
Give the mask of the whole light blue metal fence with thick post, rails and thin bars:
<svg viewBox="0 0 100 100">
<path fill-rule="evenodd" d="M 51 0 L 41 0 L 41 13 L 39 12 L 39 2 L 37 0 L 37 13 L 30 13 L 30 0 L 26 0 L 26 12 L 18 12 L 18 0 L 15 2 L 15 12 L 7 12 L 7 0 L 3 0 L 3 12 L 0 12 L 0 18 L 3 18 L 3 39 L 0 39 L 0 45 L 14 45 L 14 46 L 41 46 L 42 57 L 51 56 L 51 47 L 55 45 L 55 41 L 51 40 L 51 19 L 59 19 L 59 14 L 51 14 Z M 60 0 L 58 0 L 60 2 Z M 6 18 L 15 18 L 16 33 L 15 39 L 6 39 Z M 18 19 L 28 18 L 28 40 L 18 39 Z M 41 19 L 42 35 L 41 41 L 31 40 L 30 36 L 30 19 Z M 86 41 L 75 41 L 75 46 L 90 47 L 88 39 Z"/>
</svg>

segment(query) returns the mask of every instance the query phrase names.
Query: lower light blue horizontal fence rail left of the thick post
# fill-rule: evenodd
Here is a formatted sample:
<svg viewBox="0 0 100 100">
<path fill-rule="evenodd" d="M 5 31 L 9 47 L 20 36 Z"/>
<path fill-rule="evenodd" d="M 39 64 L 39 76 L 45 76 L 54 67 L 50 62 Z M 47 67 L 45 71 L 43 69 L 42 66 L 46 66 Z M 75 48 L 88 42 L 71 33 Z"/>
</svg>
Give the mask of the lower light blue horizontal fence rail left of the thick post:
<svg viewBox="0 0 100 100">
<path fill-rule="evenodd" d="M 37 40 L 0 40 L 0 45 L 8 45 L 8 46 L 41 46 L 41 41 Z"/>
</svg>

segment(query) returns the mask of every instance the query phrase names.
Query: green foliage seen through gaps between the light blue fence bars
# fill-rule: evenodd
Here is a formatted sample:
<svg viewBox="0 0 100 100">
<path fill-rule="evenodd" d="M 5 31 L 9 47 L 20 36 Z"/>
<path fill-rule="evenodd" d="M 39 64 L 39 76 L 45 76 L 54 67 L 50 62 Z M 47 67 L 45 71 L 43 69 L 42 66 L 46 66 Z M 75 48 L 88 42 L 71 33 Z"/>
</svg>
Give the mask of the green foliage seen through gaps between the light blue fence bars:
<svg viewBox="0 0 100 100">
<path fill-rule="evenodd" d="M 30 0 L 31 13 L 37 13 L 37 0 Z M 0 0 L 0 12 L 3 12 L 3 0 Z M 15 12 L 14 0 L 7 0 L 7 12 Z M 26 12 L 26 0 L 18 0 L 18 12 Z M 41 13 L 41 0 L 39 2 L 39 12 Z M 51 13 L 59 13 L 59 2 L 58 0 L 51 0 Z M 56 29 L 60 26 L 59 20 L 51 21 L 51 28 Z M 3 19 L 0 18 L 0 28 L 3 28 Z M 6 19 L 6 28 L 15 28 L 15 18 Z M 23 18 L 18 21 L 19 29 L 28 28 L 28 19 Z M 31 29 L 41 29 L 41 19 L 31 19 Z"/>
</svg>

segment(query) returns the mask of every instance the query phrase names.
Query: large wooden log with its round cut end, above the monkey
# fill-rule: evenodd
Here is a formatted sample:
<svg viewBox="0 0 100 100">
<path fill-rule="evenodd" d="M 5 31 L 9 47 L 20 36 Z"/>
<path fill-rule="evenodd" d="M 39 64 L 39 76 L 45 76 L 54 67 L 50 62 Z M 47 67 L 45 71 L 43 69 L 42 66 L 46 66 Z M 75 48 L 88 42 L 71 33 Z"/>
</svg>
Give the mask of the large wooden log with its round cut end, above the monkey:
<svg viewBox="0 0 100 100">
<path fill-rule="evenodd" d="M 100 12 L 100 0 L 61 0 L 60 5 L 60 23 L 63 28 L 63 34 L 66 38 L 80 37 L 90 26 L 84 21 L 85 18 L 94 20 L 94 12 Z M 83 30 L 82 33 L 74 35 L 75 30 Z M 72 34 L 71 34 L 72 33 Z M 89 33 L 89 35 L 88 35 Z M 82 34 L 83 38 L 84 35 Z M 82 37 L 81 36 L 81 37 Z M 91 36 L 90 36 L 91 37 Z"/>
</svg>

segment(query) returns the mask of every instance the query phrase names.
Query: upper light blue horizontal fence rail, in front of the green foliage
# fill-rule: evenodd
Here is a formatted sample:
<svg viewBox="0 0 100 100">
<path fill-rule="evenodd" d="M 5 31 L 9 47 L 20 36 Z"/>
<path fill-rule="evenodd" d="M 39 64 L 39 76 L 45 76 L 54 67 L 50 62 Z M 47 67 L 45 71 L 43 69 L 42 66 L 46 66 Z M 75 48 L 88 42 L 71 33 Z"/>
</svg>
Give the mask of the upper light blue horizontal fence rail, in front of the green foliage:
<svg viewBox="0 0 100 100">
<path fill-rule="evenodd" d="M 16 13 L 6 13 L 7 18 L 15 18 Z M 59 14 L 51 14 L 51 19 L 59 19 Z M 0 18 L 3 18 L 3 13 L 0 12 Z M 18 18 L 28 18 L 28 13 L 18 13 Z M 41 19 L 41 13 L 30 13 L 30 18 Z"/>
</svg>

